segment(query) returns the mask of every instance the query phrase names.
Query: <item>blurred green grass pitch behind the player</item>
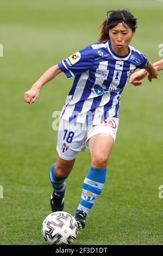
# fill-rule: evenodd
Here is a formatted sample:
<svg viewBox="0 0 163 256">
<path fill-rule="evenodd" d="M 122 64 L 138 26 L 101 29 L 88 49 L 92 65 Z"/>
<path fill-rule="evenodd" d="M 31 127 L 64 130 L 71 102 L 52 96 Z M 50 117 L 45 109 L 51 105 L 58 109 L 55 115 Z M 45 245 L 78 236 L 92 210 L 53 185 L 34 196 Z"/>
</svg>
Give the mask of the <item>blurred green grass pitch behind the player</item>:
<svg viewBox="0 0 163 256">
<path fill-rule="evenodd" d="M 64 74 L 28 105 L 23 94 L 50 66 L 98 40 L 106 11 L 128 8 L 139 27 L 131 45 L 155 62 L 163 43 L 163 2 L 154 0 L 0 2 L 0 244 L 44 245 L 41 224 L 51 213 L 48 173 L 56 160 L 52 113 L 64 105 L 73 78 Z M 130 84 L 121 98 L 120 126 L 104 191 L 76 245 L 162 245 L 162 79 Z M 90 168 L 88 150 L 67 179 L 65 211 L 74 214 Z"/>
</svg>

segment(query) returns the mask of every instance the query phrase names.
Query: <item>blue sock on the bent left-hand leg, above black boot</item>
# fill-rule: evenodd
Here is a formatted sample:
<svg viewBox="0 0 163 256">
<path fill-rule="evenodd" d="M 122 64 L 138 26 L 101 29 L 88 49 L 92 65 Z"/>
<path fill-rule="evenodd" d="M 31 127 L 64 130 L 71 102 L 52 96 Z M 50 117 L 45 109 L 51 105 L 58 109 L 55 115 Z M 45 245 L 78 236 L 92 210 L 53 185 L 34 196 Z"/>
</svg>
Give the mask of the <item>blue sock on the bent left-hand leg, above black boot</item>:
<svg viewBox="0 0 163 256">
<path fill-rule="evenodd" d="M 51 172 L 49 173 L 49 179 L 51 181 L 52 187 L 54 188 L 54 192 L 60 196 L 64 196 L 65 194 L 65 188 L 66 188 L 66 182 L 68 175 L 64 178 L 57 178 L 54 173 L 55 164 L 53 163 Z"/>
</svg>

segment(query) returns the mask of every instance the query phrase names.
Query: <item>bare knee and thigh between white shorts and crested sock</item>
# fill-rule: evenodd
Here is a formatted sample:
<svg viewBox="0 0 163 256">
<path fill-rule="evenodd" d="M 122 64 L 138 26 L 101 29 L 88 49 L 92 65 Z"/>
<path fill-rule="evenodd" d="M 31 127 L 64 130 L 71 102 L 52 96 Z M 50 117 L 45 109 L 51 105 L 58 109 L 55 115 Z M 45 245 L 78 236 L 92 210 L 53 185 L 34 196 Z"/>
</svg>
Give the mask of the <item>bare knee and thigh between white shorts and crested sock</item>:
<svg viewBox="0 0 163 256">
<path fill-rule="evenodd" d="M 95 168 L 105 168 L 114 146 L 114 138 L 107 133 L 98 133 L 89 139 L 91 165 Z"/>
</svg>

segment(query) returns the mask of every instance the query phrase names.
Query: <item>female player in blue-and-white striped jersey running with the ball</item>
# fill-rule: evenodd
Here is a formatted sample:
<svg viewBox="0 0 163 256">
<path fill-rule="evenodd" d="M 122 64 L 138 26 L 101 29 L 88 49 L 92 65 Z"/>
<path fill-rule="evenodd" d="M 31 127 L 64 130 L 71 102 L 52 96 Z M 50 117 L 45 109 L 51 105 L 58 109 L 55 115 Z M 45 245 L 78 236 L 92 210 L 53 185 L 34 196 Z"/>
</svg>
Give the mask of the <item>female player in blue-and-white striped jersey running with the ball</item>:
<svg viewBox="0 0 163 256">
<path fill-rule="evenodd" d="M 62 211 L 65 180 L 77 154 L 89 148 L 91 167 L 84 179 L 82 197 L 74 216 L 79 229 L 85 227 L 85 217 L 105 183 L 106 165 L 119 123 L 118 108 L 123 88 L 137 68 L 146 69 L 151 80 L 158 76 L 158 70 L 146 56 L 129 46 L 137 27 L 136 18 L 129 10 L 108 11 L 101 27 L 98 42 L 52 66 L 24 94 L 24 100 L 31 104 L 39 96 L 41 87 L 61 72 L 67 77 L 74 76 L 61 111 L 57 162 L 52 165 L 49 178 L 54 188 L 52 211 Z"/>
</svg>

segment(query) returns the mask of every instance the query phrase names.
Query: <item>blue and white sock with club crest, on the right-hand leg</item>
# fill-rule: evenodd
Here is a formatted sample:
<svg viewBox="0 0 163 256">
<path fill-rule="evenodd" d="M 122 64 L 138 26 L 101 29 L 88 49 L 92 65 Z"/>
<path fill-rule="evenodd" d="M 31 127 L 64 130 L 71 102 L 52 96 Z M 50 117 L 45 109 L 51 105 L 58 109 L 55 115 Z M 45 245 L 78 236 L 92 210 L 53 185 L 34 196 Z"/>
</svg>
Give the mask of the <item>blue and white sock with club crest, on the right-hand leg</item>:
<svg viewBox="0 0 163 256">
<path fill-rule="evenodd" d="M 105 179 L 106 168 L 96 169 L 91 167 L 83 182 L 82 197 L 80 199 L 80 204 L 76 209 L 76 214 L 81 210 L 84 211 L 86 215 L 89 213 L 93 204 L 95 204 L 96 199 L 102 192 Z"/>
</svg>

